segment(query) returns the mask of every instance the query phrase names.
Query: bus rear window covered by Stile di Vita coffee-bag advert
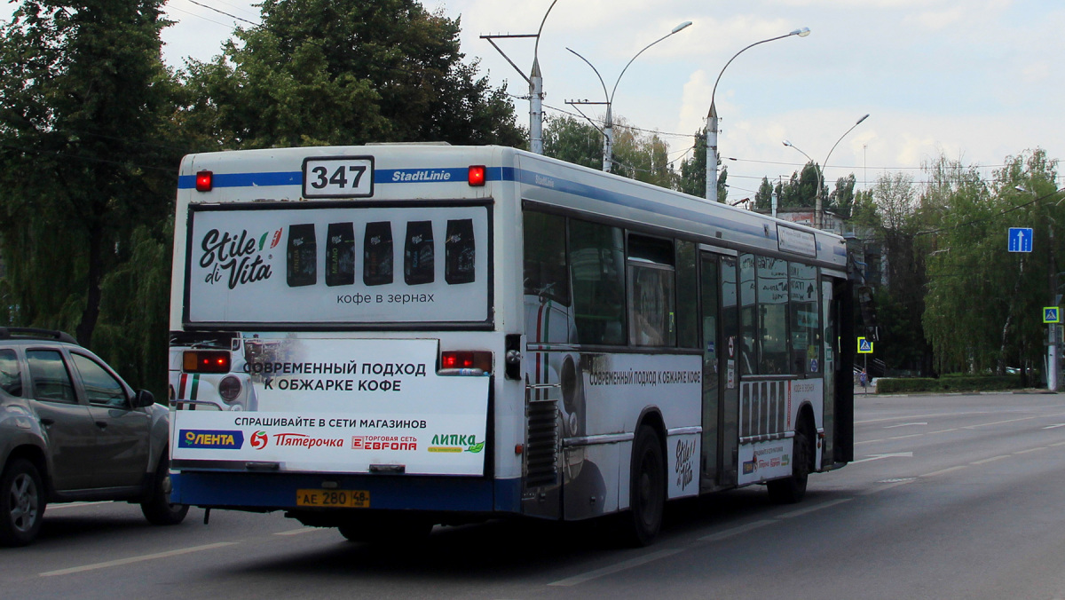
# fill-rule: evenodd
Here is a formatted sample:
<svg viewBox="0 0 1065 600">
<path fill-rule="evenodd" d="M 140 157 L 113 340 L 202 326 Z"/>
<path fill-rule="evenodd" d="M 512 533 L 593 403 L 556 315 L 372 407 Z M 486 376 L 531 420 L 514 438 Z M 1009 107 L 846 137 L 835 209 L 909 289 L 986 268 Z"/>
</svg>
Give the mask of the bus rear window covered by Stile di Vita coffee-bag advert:
<svg viewBox="0 0 1065 600">
<path fill-rule="evenodd" d="M 489 320 L 487 207 L 194 206 L 190 221 L 186 323 Z"/>
</svg>

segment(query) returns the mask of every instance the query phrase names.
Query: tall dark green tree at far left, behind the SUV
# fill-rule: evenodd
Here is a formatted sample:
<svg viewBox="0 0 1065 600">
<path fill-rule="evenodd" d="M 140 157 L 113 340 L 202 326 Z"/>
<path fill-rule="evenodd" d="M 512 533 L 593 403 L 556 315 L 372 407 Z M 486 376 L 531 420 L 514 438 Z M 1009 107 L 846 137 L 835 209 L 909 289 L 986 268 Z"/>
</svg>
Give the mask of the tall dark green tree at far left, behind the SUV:
<svg viewBox="0 0 1065 600">
<path fill-rule="evenodd" d="M 115 346 L 95 343 L 94 334 L 111 317 L 110 294 L 136 295 L 145 272 L 169 273 L 164 256 L 141 264 L 130 288 L 104 290 L 134 253 L 133 231 L 165 240 L 171 210 L 181 150 L 167 142 L 174 86 L 160 59 L 162 4 L 27 0 L 0 26 L 7 321 L 71 330 L 108 360 Z M 157 322 L 110 324 L 128 333 Z M 147 347 L 134 343 L 131 352 L 140 351 Z M 148 377 L 124 375 L 134 384 Z"/>
</svg>

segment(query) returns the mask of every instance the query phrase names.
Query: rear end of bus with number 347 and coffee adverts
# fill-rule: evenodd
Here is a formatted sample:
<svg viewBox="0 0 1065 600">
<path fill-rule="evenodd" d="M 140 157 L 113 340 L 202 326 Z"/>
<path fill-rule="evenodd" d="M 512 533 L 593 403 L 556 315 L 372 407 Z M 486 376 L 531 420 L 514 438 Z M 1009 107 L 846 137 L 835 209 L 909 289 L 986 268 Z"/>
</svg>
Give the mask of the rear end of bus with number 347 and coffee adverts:
<svg viewBox="0 0 1065 600">
<path fill-rule="evenodd" d="M 520 442 L 518 416 L 497 427 L 492 407 L 515 343 L 492 301 L 493 220 L 513 210 L 492 198 L 505 152 L 185 158 L 176 502 L 283 509 L 353 538 L 519 512 L 520 463 L 489 442 Z"/>
</svg>

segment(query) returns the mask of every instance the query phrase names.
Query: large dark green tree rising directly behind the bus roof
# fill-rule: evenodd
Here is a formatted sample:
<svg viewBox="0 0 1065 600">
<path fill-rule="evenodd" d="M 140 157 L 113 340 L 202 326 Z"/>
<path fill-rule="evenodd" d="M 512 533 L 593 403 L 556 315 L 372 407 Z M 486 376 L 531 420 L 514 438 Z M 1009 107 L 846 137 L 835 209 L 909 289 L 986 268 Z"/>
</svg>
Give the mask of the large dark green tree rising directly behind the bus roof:
<svg viewBox="0 0 1065 600">
<path fill-rule="evenodd" d="M 206 147 L 367 142 L 522 146 L 506 91 L 462 63 L 459 21 L 414 0 L 265 0 L 213 62 L 183 74 Z"/>
</svg>

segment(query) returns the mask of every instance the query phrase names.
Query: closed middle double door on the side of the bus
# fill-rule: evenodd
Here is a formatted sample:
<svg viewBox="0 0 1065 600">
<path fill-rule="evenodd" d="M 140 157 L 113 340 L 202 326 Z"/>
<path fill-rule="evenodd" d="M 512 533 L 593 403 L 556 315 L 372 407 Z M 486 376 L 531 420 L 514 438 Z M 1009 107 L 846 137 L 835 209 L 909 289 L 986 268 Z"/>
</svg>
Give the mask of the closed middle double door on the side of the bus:
<svg viewBox="0 0 1065 600">
<path fill-rule="evenodd" d="M 703 323 L 703 440 L 700 489 L 737 482 L 739 351 L 736 257 L 701 255 Z"/>
</svg>

